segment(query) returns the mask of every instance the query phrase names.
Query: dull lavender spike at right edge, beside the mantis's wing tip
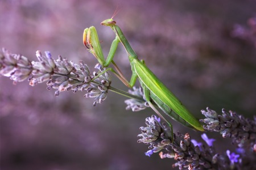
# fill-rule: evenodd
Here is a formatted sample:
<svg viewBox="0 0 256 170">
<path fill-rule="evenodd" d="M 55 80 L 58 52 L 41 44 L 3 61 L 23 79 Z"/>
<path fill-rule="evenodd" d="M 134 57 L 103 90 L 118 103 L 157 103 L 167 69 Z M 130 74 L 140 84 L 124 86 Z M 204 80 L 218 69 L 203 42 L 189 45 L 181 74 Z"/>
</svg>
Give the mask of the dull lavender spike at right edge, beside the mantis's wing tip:
<svg viewBox="0 0 256 170">
<path fill-rule="evenodd" d="M 215 111 L 207 108 L 207 111 L 202 110 L 202 114 L 206 117 L 201 122 L 204 122 L 205 130 L 219 131 L 222 137 L 230 137 L 233 143 L 238 147 L 248 147 L 254 150 L 256 143 L 256 121 L 249 120 L 235 112 L 226 112 L 222 109 L 222 115 L 218 115 Z"/>
</svg>

